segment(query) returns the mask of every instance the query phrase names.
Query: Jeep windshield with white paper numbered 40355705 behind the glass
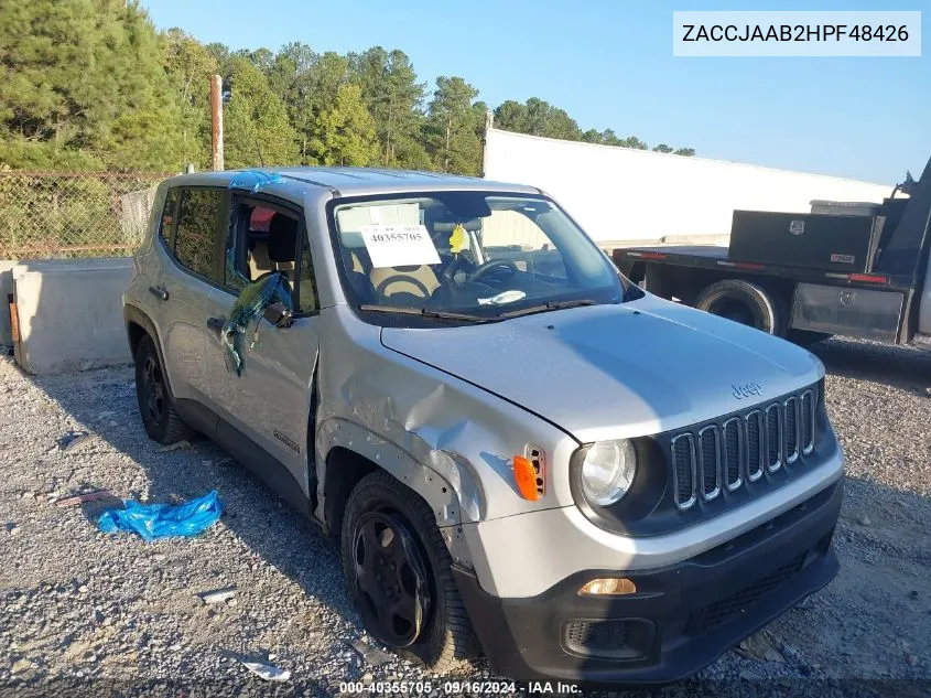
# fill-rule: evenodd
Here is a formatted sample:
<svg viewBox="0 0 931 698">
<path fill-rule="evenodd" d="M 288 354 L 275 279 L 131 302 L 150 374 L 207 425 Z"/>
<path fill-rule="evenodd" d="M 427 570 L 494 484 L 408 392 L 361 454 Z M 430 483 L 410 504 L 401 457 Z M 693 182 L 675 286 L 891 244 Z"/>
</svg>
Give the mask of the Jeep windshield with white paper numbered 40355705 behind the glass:
<svg viewBox="0 0 931 698">
<path fill-rule="evenodd" d="M 606 255 L 543 197 L 368 197 L 333 215 L 349 302 L 362 311 L 494 321 L 624 298 Z"/>
</svg>

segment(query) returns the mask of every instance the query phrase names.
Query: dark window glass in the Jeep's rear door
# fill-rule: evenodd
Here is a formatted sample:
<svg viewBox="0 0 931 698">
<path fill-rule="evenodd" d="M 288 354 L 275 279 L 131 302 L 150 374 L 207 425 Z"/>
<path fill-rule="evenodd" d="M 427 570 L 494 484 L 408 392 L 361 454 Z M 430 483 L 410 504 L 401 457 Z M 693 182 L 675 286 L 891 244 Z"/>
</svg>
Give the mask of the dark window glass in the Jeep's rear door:
<svg viewBox="0 0 931 698">
<path fill-rule="evenodd" d="M 214 278 L 214 238 L 223 215 L 224 192 L 188 189 L 181 197 L 174 240 L 174 256 L 185 267 L 207 279 Z"/>
</svg>

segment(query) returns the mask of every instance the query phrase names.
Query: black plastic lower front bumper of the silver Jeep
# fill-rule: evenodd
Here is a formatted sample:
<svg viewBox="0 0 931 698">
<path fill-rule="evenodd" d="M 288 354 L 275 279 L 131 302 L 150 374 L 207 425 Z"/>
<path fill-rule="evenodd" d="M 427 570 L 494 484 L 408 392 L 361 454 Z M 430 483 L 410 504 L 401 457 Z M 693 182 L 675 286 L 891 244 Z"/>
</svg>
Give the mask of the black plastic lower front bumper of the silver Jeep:
<svg viewBox="0 0 931 698">
<path fill-rule="evenodd" d="M 660 569 L 587 570 L 532 598 L 486 593 L 454 568 L 486 655 L 515 679 L 667 683 L 690 676 L 837 573 L 831 548 L 843 481 L 766 524 Z M 559 551 L 554 550 L 554 555 Z M 592 579 L 624 576 L 637 593 L 582 598 Z"/>
</svg>

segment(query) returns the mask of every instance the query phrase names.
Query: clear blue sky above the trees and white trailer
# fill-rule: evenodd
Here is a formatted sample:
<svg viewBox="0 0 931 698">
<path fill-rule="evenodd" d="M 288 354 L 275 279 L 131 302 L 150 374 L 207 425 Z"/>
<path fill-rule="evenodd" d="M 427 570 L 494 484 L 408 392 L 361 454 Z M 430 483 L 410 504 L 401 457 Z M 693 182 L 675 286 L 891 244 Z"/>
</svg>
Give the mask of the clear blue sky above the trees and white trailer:
<svg viewBox="0 0 931 698">
<path fill-rule="evenodd" d="M 155 24 L 232 49 L 401 49 L 421 80 L 461 75 L 491 106 L 540 97 L 582 129 L 700 157 L 895 183 L 931 157 L 920 58 L 672 56 L 673 10 L 923 10 L 928 0 L 142 0 Z"/>
</svg>

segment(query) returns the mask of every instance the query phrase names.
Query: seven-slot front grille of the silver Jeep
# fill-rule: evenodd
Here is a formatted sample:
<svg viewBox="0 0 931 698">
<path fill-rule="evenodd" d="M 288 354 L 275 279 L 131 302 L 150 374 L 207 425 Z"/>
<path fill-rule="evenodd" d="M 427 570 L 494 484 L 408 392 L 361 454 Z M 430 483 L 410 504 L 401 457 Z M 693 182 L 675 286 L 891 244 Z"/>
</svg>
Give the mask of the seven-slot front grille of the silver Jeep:
<svg viewBox="0 0 931 698">
<path fill-rule="evenodd" d="M 737 492 L 814 450 L 815 388 L 673 436 L 673 497 L 680 509 Z"/>
</svg>

